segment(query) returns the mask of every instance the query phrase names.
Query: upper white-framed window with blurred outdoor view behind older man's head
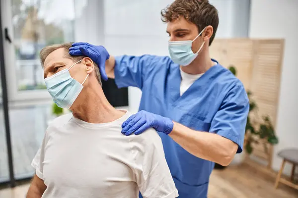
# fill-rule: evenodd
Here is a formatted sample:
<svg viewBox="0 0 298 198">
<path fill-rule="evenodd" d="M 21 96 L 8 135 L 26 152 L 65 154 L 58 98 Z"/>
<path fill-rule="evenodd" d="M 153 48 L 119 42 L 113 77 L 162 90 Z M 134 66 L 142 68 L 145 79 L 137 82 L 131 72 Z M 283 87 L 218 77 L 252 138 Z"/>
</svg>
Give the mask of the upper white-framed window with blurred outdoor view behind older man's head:
<svg viewBox="0 0 298 198">
<path fill-rule="evenodd" d="M 39 51 L 51 44 L 74 42 L 74 0 L 7 0 L 3 2 L 12 43 L 5 42 L 9 100 L 50 99 Z M 80 3 L 81 4 L 81 3 Z"/>
</svg>

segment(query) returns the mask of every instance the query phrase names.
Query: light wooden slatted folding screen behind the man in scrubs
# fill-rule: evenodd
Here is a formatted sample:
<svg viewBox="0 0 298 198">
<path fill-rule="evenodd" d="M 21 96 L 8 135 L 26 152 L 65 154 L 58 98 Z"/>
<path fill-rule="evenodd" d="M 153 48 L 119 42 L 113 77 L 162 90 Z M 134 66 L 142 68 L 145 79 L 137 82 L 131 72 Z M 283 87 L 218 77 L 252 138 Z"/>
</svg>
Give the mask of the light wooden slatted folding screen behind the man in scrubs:
<svg viewBox="0 0 298 198">
<path fill-rule="evenodd" d="M 258 111 L 251 116 L 261 121 L 262 116 L 269 115 L 275 126 L 284 40 L 217 39 L 210 51 L 211 57 L 223 66 L 234 65 L 237 78 L 246 90 L 252 92 Z M 272 147 L 267 146 L 269 153 L 265 152 L 262 144 L 253 145 L 253 154 L 267 160 L 271 167 Z"/>
</svg>

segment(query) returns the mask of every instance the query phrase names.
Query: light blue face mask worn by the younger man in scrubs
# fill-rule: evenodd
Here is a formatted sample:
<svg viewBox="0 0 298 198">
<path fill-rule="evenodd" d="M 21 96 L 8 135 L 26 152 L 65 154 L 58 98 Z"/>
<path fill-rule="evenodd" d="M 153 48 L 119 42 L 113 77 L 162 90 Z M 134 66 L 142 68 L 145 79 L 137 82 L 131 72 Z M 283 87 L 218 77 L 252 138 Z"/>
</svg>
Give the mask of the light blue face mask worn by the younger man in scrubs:
<svg viewBox="0 0 298 198">
<path fill-rule="evenodd" d="M 192 43 L 204 32 L 205 29 L 206 27 L 192 41 L 169 41 L 169 53 L 174 63 L 181 66 L 186 66 L 189 65 L 197 57 L 198 53 L 203 48 L 205 41 L 196 53 L 191 50 Z"/>
</svg>

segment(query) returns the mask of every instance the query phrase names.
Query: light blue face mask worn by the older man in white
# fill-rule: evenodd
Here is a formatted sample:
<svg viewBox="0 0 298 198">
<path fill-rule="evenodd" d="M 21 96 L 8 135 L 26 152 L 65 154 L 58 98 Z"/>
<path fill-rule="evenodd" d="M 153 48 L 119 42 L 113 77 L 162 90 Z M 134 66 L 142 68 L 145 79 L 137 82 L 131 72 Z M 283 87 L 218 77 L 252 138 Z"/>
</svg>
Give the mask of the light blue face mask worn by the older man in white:
<svg viewBox="0 0 298 198">
<path fill-rule="evenodd" d="M 76 63 L 80 61 L 81 60 L 77 61 Z M 83 84 L 89 76 L 89 74 L 87 74 L 82 84 L 73 79 L 69 70 L 76 63 L 74 63 L 70 68 L 64 69 L 45 79 L 48 92 L 52 96 L 57 106 L 61 108 L 69 109 L 73 105 L 74 100 L 82 91 Z"/>
</svg>

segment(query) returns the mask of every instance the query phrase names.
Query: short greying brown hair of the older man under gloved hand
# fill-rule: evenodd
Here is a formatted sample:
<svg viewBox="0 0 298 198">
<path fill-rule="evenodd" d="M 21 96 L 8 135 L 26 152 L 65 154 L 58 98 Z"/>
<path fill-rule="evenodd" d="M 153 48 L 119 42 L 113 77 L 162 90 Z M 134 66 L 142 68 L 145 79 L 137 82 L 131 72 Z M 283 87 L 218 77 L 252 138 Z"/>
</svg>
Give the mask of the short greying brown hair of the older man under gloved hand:
<svg viewBox="0 0 298 198">
<path fill-rule="evenodd" d="M 41 62 L 41 66 L 44 67 L 44 63 L 45 63 L 45 60 L 46 58 L 48 57 L 48 55 L 50 53 L 52 53 L 53 51 L 55 51 L 56 49 L 60 49 L 60 48 L 64 48 L 65 49 L 65 57 L 66 58 L 70 58 L 72 59 L 74 62 L 77 62 L 81 59 L 83 59 L 84 57 L 86 56 L 72 56 L 70 53 L 69 53 L 69 49 L 72 47 L 72 44 L 71 42 L 69 43 L 64 43 L 64 44 L 55 44 L 55 45 L 49 45 L 49 46 L 46 46 L 44 47 L 43 49 L 40 50 L 39 52 L 39 57 L 40 57 L 40 62 Z M 99 82 L 100 85 L 101 84 L 101 79 L 100 79 L 100 72 L 99 72 L 99 68 L 97 66 L 97 64 L 95 62 L 93 62 L 94 64 L 94 70 L 95 70 L 95 75 L 96 75 L 96 78 Z"/>
</svg>

